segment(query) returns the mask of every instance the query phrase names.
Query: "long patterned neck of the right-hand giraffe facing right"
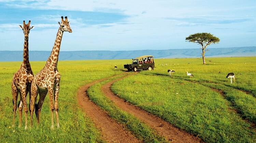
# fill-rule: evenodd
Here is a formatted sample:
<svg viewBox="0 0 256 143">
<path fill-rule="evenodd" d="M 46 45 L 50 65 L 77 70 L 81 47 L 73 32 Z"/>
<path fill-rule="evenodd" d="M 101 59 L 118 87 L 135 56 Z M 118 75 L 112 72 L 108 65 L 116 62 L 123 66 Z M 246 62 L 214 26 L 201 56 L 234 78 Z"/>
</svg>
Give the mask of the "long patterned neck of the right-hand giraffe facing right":
<svg viewBox="0 0 256 143">
<path fill-rule="evenodd" d="M 63 31 L 61 31 L 61 29 L 59 28 L 56 39 L 55 39 L 55 43 L 54 43 L 54 46 L 53 46 L 52 53 L 49 56 L 49 58 L 46 62 L 46 65 L 45 65 L 47 68 L 51 68 L 51 69 L 56 69 L 57 68 L 62 35 L 63 35 Z"/>
</svg>

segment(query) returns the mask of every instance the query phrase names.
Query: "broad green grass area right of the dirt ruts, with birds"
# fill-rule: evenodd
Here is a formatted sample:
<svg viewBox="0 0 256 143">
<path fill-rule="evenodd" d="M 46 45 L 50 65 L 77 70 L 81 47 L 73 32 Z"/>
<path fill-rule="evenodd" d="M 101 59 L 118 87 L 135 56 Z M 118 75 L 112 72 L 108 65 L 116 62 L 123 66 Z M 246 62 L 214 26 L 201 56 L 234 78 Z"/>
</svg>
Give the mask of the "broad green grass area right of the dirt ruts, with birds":
<svg viewBox="0 0 256 143">
<path fill-rule="evenodd" d="M 211 58 L 208 65 L 201 59 L 156 59 L 160 65 L 154 71 L 120 80 L 112 90 L 206 142 L 255 142 L 255 59 Z M 168 69 L 175 71 L 172 77 Z M 186 71 L 194 77 L 190 79 Z M 236 83 L 226 78 L 229 72 L 236 74 Z M 216 85 L 225 89 L 225 96 L 211 89 Z"/>
</svg>

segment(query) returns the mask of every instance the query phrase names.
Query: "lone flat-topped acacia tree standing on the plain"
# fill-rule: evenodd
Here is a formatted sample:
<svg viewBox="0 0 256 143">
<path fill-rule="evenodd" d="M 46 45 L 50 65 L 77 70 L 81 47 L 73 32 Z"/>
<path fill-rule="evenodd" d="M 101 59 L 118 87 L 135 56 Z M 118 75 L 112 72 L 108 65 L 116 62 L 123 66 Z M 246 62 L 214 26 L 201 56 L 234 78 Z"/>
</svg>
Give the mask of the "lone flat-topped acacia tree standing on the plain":
<svg viewBox="0 0 256 143">
<path fill-rule="evenodd" d="M 209 49 L 205 50 L 206 47 L 210 44 L 216 44 L 219 43 L 219 38 L 213 36 L 211 33 L 196 33 L 189 35 L 189 37 L 186 37 L 186 42 L 193 42 L 193 43 L 198 43 L 199 45 L 202 46 L 202 57 L 203 57 L 203 65 L 205 65 L 205 58 L 204 58 L 204 53 L 206 51 L 209 51 Z"/>
</svg>

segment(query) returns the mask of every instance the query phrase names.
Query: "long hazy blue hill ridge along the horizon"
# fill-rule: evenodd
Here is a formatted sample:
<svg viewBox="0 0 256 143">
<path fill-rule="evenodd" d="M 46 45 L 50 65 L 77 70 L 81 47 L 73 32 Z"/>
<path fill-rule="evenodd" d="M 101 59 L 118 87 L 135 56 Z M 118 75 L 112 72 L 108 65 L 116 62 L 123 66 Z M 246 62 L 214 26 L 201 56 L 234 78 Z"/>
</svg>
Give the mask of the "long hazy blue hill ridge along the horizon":
<svg viewBox="0 0 256 143">
<path fill-rule="evenodd" d="M 207 48 L 205 57 L 256 56 L 256 47 Z M 167 49 L 137 51 L 60 51 L 59 60 L 132 59 L 141 55 L 155 58 L 201 57 L 201 49 Z M 30 61 L 45 61 L 51 51 L 29 51 Z M 0 51 L 0 61 L 22 61 L 23 51 Z"/>
</svg>

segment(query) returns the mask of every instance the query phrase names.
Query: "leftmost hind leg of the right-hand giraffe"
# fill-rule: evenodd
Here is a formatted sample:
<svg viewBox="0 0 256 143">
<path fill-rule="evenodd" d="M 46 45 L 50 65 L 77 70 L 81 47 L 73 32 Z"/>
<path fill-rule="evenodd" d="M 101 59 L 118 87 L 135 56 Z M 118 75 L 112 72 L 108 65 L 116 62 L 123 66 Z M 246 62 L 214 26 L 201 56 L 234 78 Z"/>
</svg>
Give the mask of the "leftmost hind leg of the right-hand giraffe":
<svg viewBox="0 0 256 143">
<path fill-rule="evenodd" d="M 31 84 L 31 98 L 30 98 L 30 127 L 33 125 L 33 112 L 35 108 L 35 102 L 37 100 L 38 95 L 38 87 L 35 85 L 34 82 Z"/>
</svg>

